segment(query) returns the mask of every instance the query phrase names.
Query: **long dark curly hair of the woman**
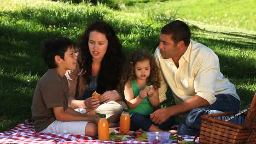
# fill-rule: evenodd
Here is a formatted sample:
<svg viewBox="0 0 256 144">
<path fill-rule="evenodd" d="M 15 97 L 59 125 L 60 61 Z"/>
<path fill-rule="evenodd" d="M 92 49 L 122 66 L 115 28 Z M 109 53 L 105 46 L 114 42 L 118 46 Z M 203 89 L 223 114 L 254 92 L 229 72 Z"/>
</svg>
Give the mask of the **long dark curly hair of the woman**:
<svg viewBox="0 0 256 144">
<path fill-rule="evenodd" d="M 104 93 L 106 91 L 118 88 L 121 78 L 121 70 L 125 62 L 125 55 L 122 50 L 122 45 L 115 34 L 112 26 L 104 21 L 92 22 L 86 28 L 84 34 L 80 39 L 80 49 L 78 54 L 78 65 L 81 69 L 80 75 L 90 83 L 92 79 L 92 56 L 89 51 L 88 40 L 91 32 L 100 32 L 106 35 L 108 40 L 107 51 L 101 61 L 101 68 L 98 74 L 97 93 Z"/>
</svg>

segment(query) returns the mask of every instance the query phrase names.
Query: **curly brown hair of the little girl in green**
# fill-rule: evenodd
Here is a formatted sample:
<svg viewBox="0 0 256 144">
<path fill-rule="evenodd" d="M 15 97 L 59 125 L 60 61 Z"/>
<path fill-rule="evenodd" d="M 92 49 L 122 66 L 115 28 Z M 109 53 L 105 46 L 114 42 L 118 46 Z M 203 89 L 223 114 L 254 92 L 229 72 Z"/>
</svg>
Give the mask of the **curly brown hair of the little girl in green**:
<svg viewBox="0 0 256 144">
<path fill-rule="evenodd" d="M 150 61 L 150 75 L 147 79 L 148 85 L 153 85 L 154 89 L 157 89 L 160 87 L 160 79 L 158 75 L 158 66 L 155 63 L 155 60 L 153 59 L 152 55 L 147 50 L 137 50 L 133 53 L 131 53 L 130 58 L 128 59 L 124 71 L 123 76 L 120 81 L 120 86 L 124 87 L 126 82 L 131 82 L 132 80 L 136 79 L 135 75 L 135 64 L 140 61 L 144 61 L 146 59 L 149 59 Z"/>
</svg>

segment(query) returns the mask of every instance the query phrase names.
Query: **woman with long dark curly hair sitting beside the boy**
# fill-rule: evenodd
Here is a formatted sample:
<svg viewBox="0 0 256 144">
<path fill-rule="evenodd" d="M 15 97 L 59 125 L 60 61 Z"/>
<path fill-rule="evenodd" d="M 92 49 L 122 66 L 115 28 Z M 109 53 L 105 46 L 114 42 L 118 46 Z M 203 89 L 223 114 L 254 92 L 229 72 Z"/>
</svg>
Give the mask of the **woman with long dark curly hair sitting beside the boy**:
<svg viewBox="0 0 256 144">
<path fill-rule="evenodd" d="M 126 104 L 121 101 L 118 83 L 125 55 L 114 29 L 103 21 L 88 26 L 79 44 L 78 66 L 68 70 L 69 105 L 106 114 L 109 122 L 118 122 Z M 100 93 L 92 99 L 92 93 Z"/>
</svg>

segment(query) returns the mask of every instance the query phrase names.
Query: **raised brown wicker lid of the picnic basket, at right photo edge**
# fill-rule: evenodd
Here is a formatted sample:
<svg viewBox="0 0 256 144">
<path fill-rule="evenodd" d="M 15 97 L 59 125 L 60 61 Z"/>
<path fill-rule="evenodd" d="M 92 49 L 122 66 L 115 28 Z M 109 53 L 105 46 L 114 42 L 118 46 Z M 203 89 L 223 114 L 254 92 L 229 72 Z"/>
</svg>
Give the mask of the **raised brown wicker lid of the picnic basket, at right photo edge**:
<svg viewBox="0 0 256 144">
<path fill-rule="evenodd" d="M 245 121 L 246 129 L 250 129 L 252 127 L 255 115 L 256 115 L 256 93 L 254 94 L 254 98 L 252 100 L 250 110 L 247 113 L 247 117 L 246 117 L 246 121 Z"/>
</svg>

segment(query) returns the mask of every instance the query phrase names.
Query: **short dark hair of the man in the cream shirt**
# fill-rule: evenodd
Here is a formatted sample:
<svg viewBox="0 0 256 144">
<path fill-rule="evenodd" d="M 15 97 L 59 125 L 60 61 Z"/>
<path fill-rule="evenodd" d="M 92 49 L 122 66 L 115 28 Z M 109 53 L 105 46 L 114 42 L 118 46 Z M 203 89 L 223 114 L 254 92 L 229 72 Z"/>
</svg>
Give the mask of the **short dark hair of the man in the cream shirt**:
<svg viewBox="0 0 256 144">
<path fill-rule="evenodd" d="M 176 20 L 168 23 L 162 27 L 161 34 L 171 34 L 171 39 L 175 44 L 182 40 L 186 46 L 188 46 L 190 43 L 190 29 L 183 21 Z"/>
</svg>

